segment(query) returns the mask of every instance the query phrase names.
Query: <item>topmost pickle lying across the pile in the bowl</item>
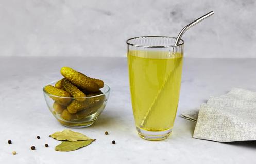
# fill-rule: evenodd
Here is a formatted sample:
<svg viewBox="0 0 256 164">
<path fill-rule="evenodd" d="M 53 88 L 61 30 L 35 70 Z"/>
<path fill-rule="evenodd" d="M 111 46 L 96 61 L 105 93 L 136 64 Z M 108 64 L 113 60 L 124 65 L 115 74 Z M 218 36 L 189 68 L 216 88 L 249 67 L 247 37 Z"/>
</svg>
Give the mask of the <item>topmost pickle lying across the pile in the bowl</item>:
<svg viewBox="0 0 256 164">
<path fill-rule="evenodd" d="M 87 90 L 89 92 L 97 92 L 99 90 L 99 86 L 97 83 L 88 79 L 86 76 L 73 70 L 70 67 L 62 67 L 60 73 L 67 80 L 69 80 L 71 83 L 73 83 L 81 89 Z"/>
</svg>

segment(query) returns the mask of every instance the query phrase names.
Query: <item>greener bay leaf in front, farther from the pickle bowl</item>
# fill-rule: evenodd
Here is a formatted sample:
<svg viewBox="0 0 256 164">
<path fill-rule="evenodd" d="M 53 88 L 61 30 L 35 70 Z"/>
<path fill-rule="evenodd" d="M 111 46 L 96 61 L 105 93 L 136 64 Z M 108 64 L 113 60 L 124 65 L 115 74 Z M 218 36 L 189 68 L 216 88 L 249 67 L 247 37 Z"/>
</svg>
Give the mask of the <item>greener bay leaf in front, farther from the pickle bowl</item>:
<svg viewBox="0 0 256 164">
<path fill-rule="evenodd" d="M 55 147 L 55 150 L 62 151 L 62 152 L 73 151 L 73 150 L 77 150 L 79 148 L 88 146 L 93 141 L 94 141 L 94 139 L 83 140 L 83 141 L 74 141 L 74 142 L 62 142 L 61 144 L 59 144 Z"/>
</svg>

